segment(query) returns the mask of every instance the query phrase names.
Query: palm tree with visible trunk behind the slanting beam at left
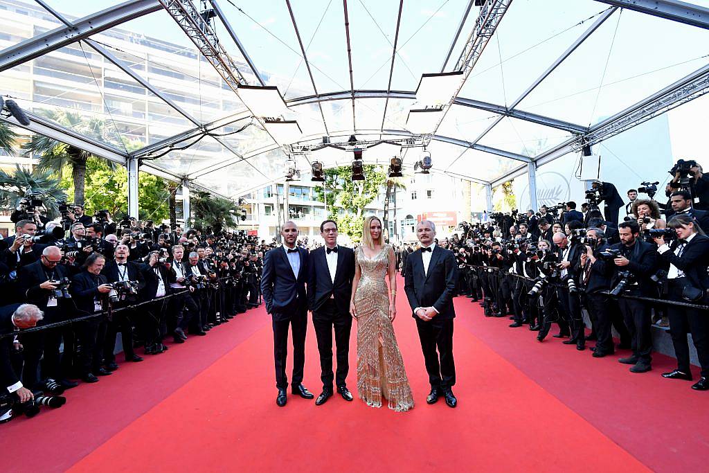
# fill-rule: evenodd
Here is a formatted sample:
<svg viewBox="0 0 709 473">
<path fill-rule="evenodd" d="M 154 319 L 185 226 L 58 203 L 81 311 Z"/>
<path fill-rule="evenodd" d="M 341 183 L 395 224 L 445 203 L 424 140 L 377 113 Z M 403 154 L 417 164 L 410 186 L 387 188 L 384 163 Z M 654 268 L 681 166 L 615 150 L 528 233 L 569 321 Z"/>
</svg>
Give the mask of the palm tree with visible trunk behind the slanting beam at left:
<svg viewBox="0 0 709 473">
<path fill-rule="evenodd" d="M 41 111 L 50 121 L 59 123 L 66 128 L 97 141 L 106 143 L 106 127 L 104 121 L 98 118 L 86 118 L 81 113 L 64 110 Z M 74 203 L 84 205 L 84 184 L 86 184 L 86 163 L 89 160 L 99 160 L 90 152 L 67 145 L 43 135 L 33 135 L 32 139 L 22 145 L 25 154 L 33 153 L 38 157 L 37 167 L 42 171 L 55 172 L 61 177 L 62 169 L 72 167 L 74 182 Z M 116 169 L 116 163 L 101 160 L 109 169 Z"/>
</svg>

